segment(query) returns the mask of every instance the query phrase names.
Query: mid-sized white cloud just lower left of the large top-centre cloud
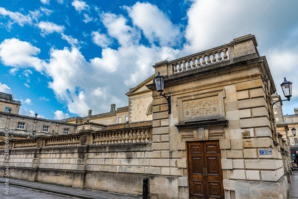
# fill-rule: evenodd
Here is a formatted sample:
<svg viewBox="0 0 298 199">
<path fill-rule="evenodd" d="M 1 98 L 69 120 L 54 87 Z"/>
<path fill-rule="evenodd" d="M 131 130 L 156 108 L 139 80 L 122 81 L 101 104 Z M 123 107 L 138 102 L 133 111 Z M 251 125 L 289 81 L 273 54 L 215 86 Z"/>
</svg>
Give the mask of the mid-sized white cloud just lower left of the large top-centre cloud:
<svg viewBox="0 0 298 199">
<path fill-rule="evenodd" d="M 103 25 L 108 29 L 108 35 L 118 40 L 121 46 L 130 46 L 139 43 L 141 32 L 127 24 L 123 15 L 104 13 L 100 15 Z"/>
</svg>

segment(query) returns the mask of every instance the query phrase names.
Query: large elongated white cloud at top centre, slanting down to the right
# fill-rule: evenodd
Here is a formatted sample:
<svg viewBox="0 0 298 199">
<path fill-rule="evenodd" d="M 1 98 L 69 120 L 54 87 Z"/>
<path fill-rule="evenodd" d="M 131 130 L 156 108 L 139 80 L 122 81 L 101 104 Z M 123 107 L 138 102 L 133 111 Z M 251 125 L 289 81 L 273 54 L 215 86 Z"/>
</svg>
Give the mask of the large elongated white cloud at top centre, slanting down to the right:
<svg viewBox="0 0 298 199">
<path fill-rule="evenodd" d="M 180 27 L 174 25 L 156 5 L 137 2 L 132 7 L 124 8 L 150 43 L 157 41 L 163 46 L 174 46 L 181 41 Z"/>
</svg>

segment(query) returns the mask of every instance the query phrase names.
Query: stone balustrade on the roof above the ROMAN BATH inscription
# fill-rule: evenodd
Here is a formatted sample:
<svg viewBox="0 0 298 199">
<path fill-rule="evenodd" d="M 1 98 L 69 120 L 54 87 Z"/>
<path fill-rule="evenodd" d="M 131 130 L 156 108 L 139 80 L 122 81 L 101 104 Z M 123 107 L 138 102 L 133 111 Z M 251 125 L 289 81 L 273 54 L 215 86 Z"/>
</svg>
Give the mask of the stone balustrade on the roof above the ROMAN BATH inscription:
<svg viewBox="0 0 298 199">
<path fill-rule="evenodd" d="M 212 49 L 211 51 L 204 51 L 191 56 L 183 57 L 170 61 L 173 65 L 174 74 L 197 69 L 211 64 L 219 63 L 228 60 L 228 48 Z M 206 59 L 207 57 L 207 59 Z"/>
</svg>

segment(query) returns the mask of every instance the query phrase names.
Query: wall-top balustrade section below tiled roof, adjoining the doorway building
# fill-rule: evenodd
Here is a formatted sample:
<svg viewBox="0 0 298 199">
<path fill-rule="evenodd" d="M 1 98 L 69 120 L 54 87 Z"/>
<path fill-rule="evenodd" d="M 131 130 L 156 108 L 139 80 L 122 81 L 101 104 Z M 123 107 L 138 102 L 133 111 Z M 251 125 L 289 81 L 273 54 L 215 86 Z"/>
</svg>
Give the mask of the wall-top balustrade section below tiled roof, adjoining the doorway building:
<svg viewBox="0 0 298 199">
<path fill-rule="evenodd" d="M 106 131 L 93 133 L 94 144 L 149 142 L 150 129 Z"/>
</svg>

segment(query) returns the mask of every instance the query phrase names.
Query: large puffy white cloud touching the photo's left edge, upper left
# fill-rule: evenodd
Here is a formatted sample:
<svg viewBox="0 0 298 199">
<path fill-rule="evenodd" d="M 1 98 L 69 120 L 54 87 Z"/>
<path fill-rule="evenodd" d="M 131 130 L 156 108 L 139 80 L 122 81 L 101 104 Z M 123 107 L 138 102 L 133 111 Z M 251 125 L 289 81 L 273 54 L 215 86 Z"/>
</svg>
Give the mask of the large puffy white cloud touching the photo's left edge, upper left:
<svg viewBox="0 0 298 199">
<path fill-rule="evenodd" d="M 39 53 L 39 48 L 16 38 L 5 39 L 0 44 L 1 62 L 5 66 L 13 66 L 15 68 L 26 68 L 29 66 L 35 68 L 37 71 L 41 71 L 42 61 L 38 57 L 34 57 Z M 15 71 L 10 72 L 15 73 Z"/>
</svg>

